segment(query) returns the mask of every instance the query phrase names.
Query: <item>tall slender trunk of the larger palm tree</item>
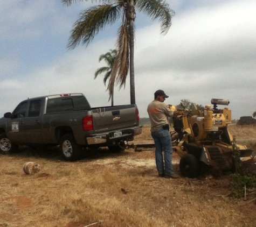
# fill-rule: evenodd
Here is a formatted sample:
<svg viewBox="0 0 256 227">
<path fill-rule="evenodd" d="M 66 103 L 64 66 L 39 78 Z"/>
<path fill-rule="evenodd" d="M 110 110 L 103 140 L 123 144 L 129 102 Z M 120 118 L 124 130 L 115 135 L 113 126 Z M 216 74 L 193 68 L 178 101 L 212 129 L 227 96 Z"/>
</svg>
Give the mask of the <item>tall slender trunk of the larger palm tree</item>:
<svg viewBox="0 0 256 227">
<path fill-rule="evenodd" d="M 130 104 L 136 104 L 135 101 L 135 80 L 134 80 L 134 20 L 136 17 L 133 0 L 130 3 L 129 12 L 130 25 Z"/>
</svg>

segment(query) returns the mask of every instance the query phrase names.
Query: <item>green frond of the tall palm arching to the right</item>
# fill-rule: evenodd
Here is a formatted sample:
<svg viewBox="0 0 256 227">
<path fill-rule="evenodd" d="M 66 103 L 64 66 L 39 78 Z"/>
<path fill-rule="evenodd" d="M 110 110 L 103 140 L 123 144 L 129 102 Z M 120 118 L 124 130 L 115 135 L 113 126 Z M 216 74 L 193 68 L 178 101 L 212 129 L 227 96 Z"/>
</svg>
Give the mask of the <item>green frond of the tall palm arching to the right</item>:
<svg viewBox="0 0 256 227">
<path fill-rule="evenodd" d="M 140 0 L 136 2 L 136 9 L 147 13 L 151 19 L 159 19 L 161 33 L 166 34 L 171 26 L 171 18 L 175 12 L 169 8 L 169 4 L 160 0 Z"/>
</svg>

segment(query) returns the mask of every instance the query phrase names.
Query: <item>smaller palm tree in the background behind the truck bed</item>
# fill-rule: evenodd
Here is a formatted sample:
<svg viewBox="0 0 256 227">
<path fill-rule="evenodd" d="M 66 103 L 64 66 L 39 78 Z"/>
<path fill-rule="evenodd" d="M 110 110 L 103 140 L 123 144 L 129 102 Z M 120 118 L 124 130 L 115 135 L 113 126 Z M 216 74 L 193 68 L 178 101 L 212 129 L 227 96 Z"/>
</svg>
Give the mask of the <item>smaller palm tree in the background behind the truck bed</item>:
<svg viewBox="0 0 256 227">
<path fill-rule="evenodd" d="M 94 79 L 96 79 L 96 77 L 99 74 L 106 72 L 104 79 L 103 79 L 105 86 L 106 86 L 107 80 L 110 78 L 110 75 L 112 73 L 113 65 L 114 65 L 114 62 L 116 59 L 116 54 L 117 54 L 116 49 L 110 49 L 110 51 L 107 52 L 106 54 L 100 55 L 99 62 L 102 60 L 105 60 L 105 62 L 107 63 L 108 66 L 103 66 L 101 68 L 98 68 L 95 72 Z M 112 106 L 114 105 L 114 89 L 112 90 L 112 94 L 111 94 L 111 105 Z"/>
</svg>

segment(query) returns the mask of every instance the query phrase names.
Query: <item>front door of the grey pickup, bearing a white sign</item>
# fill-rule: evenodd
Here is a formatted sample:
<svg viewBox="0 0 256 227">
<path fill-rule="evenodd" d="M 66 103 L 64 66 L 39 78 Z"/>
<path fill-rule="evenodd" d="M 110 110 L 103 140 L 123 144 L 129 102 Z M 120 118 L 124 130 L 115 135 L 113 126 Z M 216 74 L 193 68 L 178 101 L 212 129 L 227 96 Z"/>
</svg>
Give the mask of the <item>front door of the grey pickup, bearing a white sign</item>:
<svg viewBox="0 0 256 227">
<path fill-rule="evenodd" d="M 12 143 L 25 143 L 25 117 L 29 108 L 29 102 L 23 101 L 18 104 L 16 109 L 12 112 L 12 118 L 8 120 L 8 138 Z"/>
</svg>

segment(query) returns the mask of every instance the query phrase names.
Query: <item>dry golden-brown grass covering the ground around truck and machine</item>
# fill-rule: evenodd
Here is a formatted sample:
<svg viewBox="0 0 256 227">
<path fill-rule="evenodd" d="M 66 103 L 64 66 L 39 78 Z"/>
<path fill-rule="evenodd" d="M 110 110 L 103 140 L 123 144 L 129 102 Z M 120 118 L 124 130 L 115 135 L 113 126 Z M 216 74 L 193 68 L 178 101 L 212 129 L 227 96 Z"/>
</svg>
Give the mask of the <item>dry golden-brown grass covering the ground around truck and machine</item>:
<svg viewBox="0 0 256 227">
<path fill-rule="evenodd" d="M 255 127 L 232 126 L 243 140 Z M 246 136 L 246 137 L 245 137 Z M 254 137 L 256 138 L 256 137 Z M 136 140 L 152 143 L 148 128 Z M 136 141 L 139 143 L 139 141 Z M 179 157 L 174 154 L 178 173 Z M 26 161 L 42 171 L 26 175 Z M 0 154 L 0 226 L 254 226 L 255 194 L 233 200 L 229 176 L 214 179 L 157 177 L 154 150 L 119 154 L 90 151 L 78 162 L 62 161 L 56 148 Z M 250 214 L 250 215 L 248 215 Z M 97 223 L 98 222 L 98 223 Z"/>
</svg>

